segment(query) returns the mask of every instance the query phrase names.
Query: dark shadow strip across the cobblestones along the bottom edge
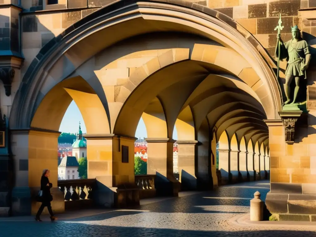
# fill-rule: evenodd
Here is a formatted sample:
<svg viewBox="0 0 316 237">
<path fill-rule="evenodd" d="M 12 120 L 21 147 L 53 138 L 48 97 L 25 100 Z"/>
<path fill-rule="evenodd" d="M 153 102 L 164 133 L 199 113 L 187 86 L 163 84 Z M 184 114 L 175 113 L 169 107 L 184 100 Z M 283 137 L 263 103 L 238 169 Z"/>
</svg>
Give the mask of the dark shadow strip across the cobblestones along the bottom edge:
<svg viewBox="0 0 316 237">
<path fill-rule="evenodd" d="M 116 227 L 106 225 L 90 225 L 84 223 L 71 223 L 68 228 L 63 227 L 58 222 L 49 223 L 32 222 L 28 226 L 27 233 L 23 229 L 23 225 L 17 226 L 15 229 L 2 228 L 2 237 L 22 237 L 22 236 L 46 236 L 46 237 L 64 237 L 64 236 L 80 236 L 80 237 L 191 237 L 191 236 L 235 236 L 235 237 L 269 237 L 269 236 L 287 236 L 287 237 L 309 237 L 315 236 L 313 231 L 290 231 L 290 230 L 264 230 L 264 231 L 202 231 L 202 230 L 179 230 L 179 229 L 163 229 L 163 228 L 137 228 L 137 227 Z M 30 222 L 28 222 L 30 224 Z M 180 227 L 185 228 L 185 227 Z M 208 227 L 206 227 L 208 228 Z"/>
</svg>

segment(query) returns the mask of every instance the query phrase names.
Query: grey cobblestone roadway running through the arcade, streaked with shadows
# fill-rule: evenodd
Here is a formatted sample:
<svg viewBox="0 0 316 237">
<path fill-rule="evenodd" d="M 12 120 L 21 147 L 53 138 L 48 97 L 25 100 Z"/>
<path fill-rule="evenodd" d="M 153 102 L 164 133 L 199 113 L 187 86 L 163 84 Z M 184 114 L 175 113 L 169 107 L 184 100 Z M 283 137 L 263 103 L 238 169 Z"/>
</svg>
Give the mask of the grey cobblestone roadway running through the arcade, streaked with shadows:
<svg viewBox="0 0 316 237">
<path fill-rule="evenodd" d="M 220 187 L 217 191 L 171 198 L 136 210 L 115 210 L 57 222 L 0 222 L 0 237 L 154 237 L 154 236 L 316 236 L 316 227 L 241 227 L 228 222 L 249 212 L 250 199 L 260 191 L 264 200 L 268 181 Z"/>
</svg>

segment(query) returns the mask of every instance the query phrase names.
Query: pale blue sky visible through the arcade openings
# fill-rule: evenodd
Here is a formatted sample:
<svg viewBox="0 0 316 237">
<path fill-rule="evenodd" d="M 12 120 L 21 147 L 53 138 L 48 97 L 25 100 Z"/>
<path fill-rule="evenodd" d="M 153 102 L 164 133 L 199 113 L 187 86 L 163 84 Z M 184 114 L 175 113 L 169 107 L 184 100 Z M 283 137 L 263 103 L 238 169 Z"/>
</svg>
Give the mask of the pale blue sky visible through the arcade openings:
<svg viewBox="0 0 316 237">
<path fill-rule="evenodd" d="M 77 107 L 75 101 L 72 101 L 64 115 L 64 118 L 60 124 L 59 131 L 61 132 L 70 132 L 76 133 L 79 128 L 79 122 L 81 123 L 82 133 L 86 133 L 86 125 L 84 124 L 82 115 Z M 139 124 L 136 129 L 135 137 L 143 138 L 147 137 L 146 126 L 144 124 L 143 119 L 139 120 Z M 173 139 L 177 140 L 177 130 L 174 128 L 173 130 Z"/>
</svg>

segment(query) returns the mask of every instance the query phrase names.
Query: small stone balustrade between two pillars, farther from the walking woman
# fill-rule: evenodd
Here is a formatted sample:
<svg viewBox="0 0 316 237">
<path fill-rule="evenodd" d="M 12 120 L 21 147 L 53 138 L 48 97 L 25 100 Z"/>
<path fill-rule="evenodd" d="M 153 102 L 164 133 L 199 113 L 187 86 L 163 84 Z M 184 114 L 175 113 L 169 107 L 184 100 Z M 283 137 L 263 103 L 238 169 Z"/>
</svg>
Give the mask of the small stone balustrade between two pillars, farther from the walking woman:
<svg viewBox="0 0 316 237">
<path fill-rule="evenodd" d="M 155 174 L 135 175 L 135 184 L 140 189 L 139 199 L 155 197 Z"/>
</svg>

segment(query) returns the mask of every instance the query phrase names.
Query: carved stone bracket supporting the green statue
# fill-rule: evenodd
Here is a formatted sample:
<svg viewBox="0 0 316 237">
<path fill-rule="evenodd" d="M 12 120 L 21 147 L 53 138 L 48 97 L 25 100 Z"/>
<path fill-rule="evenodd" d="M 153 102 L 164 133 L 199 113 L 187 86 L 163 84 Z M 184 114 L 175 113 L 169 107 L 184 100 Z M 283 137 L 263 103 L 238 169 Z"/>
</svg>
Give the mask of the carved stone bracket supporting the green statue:
<svg viewBox="0 0 316 237">
<path fill-rule="evenodd" d="M 295 125 L 297 120 L 301 117 L 303 111 L 280 111 L 279 115 L 282 119 L 285 130 L 285 143 L 293 144 L 295 135 Z"/>
</svg>

